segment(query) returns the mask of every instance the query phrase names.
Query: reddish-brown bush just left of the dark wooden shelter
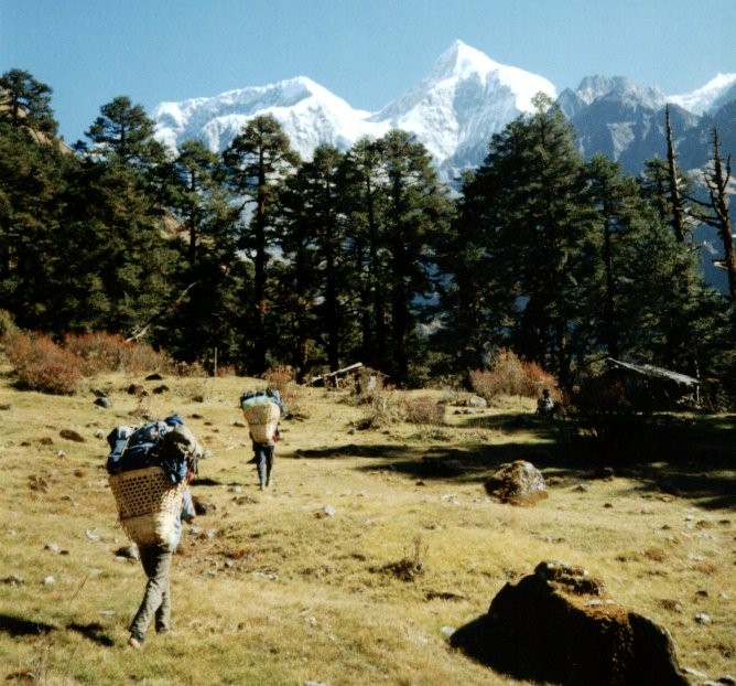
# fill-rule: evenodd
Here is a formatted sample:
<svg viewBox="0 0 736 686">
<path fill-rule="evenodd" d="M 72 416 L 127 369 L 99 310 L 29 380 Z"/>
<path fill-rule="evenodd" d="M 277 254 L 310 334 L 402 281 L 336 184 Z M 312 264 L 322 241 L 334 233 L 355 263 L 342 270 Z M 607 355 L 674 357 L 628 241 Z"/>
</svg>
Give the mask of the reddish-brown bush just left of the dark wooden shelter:
<svg viewBox="0 0 736 686">
<path fill-rule="evenodd" d="M 534 362 L 523 362 L 510 350 L 500 350 L 491 369 L 470 371 L 473 390 L 486 400 L 500 395 L 539 397 L 542 388 L 553 392 L 554 376 Z"/>
</svg>

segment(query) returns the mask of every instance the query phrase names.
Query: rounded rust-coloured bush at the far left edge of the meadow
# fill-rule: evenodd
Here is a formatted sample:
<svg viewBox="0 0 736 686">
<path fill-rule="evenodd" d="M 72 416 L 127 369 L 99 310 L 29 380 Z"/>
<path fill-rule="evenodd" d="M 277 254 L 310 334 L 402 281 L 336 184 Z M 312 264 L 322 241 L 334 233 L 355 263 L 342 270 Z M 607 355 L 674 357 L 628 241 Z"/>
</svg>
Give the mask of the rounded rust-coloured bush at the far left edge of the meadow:
<svg viewBox="0 0 736 686">
<path fill-rule="evenodd" d="M 84 378 L 78 358 L 50 337 L 15 333 L 4 336 L 6 354 L 22 388 L 73 395 Z"/>
</svg>

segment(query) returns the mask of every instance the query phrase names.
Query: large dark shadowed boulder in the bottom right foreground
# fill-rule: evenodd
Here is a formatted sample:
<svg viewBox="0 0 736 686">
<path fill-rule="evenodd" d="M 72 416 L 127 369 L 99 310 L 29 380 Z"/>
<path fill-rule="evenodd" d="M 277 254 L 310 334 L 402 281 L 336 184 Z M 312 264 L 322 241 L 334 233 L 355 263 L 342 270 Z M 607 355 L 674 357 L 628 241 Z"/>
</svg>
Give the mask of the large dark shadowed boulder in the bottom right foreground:
<svg viewBox="0 0 736 686">
<path fill-rule="evenodd" d="M 517 679 L 564 686 L 688 686 L 665 629 L 606 597 L 584 569 L 541 562 L 507 583 L 452 644 Z"/>
</svg>

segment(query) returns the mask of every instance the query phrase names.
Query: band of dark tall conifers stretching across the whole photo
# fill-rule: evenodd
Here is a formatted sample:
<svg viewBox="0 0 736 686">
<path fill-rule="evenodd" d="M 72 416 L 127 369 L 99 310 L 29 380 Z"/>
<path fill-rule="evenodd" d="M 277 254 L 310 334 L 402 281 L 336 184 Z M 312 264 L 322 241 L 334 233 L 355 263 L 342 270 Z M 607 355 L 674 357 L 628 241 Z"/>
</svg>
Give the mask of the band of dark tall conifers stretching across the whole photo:
<svg viewBox="0 0 736 686">
<path fill-rule="evenodd" d="M 117 97 L 69 148 L 51 87 L 11 69 L 0 88 L 0 309 L 22 329 L 117 333 L 251 375 L 360 361 L 416 385 L 510 349 L 563 388 L 607 356 L 734 386 L 717 130 L 699 202 L 671 132 L 629 176 L 584 160 L 540 95 L 454 190 L 400 130 L 302 160 L 261 116 L 221 154 L 198 140 L 173 154 Z M 729 293 L 703 281 L 702 224 L 724 248 Z"/>
</svg>

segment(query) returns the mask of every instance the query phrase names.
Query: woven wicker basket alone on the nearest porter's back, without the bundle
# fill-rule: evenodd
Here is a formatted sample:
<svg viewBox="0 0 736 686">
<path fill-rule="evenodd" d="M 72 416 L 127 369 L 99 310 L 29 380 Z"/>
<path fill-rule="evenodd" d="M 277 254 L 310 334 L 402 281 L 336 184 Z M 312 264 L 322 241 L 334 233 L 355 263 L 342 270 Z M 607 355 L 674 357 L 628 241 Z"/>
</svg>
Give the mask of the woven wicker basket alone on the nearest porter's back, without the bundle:
<svg viewBox="0 0 736 686">
<path fill-rule="evenodd" d="M 110 475 L 120 524 L 139 546 L 170 545 L 186 482 L 172 484 L 160 467 Z"/>
</svg>

